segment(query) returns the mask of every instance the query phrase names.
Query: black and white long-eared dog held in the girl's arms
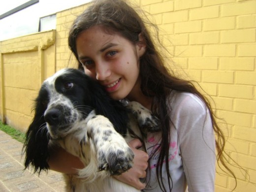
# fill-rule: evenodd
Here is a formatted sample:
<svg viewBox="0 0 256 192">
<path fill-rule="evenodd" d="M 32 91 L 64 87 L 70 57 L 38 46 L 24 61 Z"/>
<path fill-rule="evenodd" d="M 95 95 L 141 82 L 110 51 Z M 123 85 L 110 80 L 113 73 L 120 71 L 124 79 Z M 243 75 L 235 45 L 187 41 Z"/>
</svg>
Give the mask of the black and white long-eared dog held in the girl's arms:
<svg viewBox="0 0 256 192">
<path fill-rule="evenodd" d="M 65 175 L 67 191 L 138 192 L 112 175 L 132 167 L 127 142 L 158 129 L 158 119 L 137 102 L 111 99 L 83 71 L 66 68 L 44 81 L 24 144 L 25 167 L 48 170 L 49 142 L 77 156 L 85 168 Z"/>
</svg>

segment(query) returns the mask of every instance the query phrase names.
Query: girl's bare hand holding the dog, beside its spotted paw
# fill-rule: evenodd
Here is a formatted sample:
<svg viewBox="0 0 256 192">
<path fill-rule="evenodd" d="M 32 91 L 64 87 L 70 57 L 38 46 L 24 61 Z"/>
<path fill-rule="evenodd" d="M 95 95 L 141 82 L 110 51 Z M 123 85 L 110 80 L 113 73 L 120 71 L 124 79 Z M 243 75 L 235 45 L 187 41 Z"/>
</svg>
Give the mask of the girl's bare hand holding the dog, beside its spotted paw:
<svg viewBox="0 0 256 192">
<path fill-rule="evenodd" d="M 137 149 L 142 146 L 139 139 L 131 140 L 128 145 L 134 153 L 133 166 L 127 172 L 114 177 L 138 190 L 143 190 L 146 184 L 141 183 L 140 178 L 146 177 L 149 156 L 146 152 Z"/>
</svg>

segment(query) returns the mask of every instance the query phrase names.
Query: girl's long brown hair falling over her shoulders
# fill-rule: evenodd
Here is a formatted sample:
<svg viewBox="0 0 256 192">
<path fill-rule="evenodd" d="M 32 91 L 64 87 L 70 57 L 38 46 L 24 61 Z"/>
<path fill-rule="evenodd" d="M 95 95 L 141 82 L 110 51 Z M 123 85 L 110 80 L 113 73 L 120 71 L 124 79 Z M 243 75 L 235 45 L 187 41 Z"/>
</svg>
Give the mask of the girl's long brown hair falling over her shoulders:
<svg viewBox="0 0 256 192">
<path fill-rule="evenodd" d="M 139 14 L 123 0 L 95 0 L 74 21 L 70 28 L 68 45 L 78 61 L 76 38 L 80 32 L 96 25 L 103 27 L 107 31 L 117 32 L 134 45 L 139 41 L 139 34 L 144 38 L 146 52 L 140 58 L 141 90 L 145 96 L 153 97 L 152 111 L 160 118 L 162 139 L 160 144 L 157 175 L 162 191 L 166 191 L 166 189 L 162 181 L 162 172 L 160 170 L 162 169 L 163 162 L 168 162 L 170 124 L 172 124 L 169 116 L 167 115 L 168 107 L 166 105 L 166 99 L 172 90 L 195 94 L 205 103 L 205 106 L 210 111 L 213 129 L 217 135 L 217 160 L 218 162 L 221 162 L 227 171 L 235 178 L 235 175 L 225 163 L 227 159 L 224 156 L 224 133 L 216 122 L 216 118 L 209 101 L 195 88 L 193 84 L 194 82 L 178 78 L 172 74 L 169 69 L 167 69 L 164 65 L 164 57 L 155 46 L 155 42 L 152 39 L 146 24 L 150 24 L 150 27 L 154 27 L 157 30 L 157 27 L 152 23 L 143 21 Z M 82 68 L 82 65 L 79 63 L 78 67 Z M 167 170 L 168 190 L 171 191 L 172 184 L 170 173 L 168 171 L 169 164 L 165 163 L 165 166 Z"/>
</svg>

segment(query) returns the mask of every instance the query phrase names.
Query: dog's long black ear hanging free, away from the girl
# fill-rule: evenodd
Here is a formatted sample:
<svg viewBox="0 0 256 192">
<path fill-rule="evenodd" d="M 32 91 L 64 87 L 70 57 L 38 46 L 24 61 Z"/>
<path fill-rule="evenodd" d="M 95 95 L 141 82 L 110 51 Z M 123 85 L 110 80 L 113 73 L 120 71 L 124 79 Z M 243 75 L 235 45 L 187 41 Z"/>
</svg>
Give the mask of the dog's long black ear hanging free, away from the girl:
<svg viewBox="0 0 256 192">
<path fill-rule="evenodd" d="M 39 173 L 41 170 L 49 169 L 47 160 L 49 159 L 48 143 L 50 136 L 44 120 L 44 111 L 48 99 L 46 92 L 41 88 L 39 96 L 35 100 L 34 118 L 26 133 L 26 141 L 23 146 L 25 168 L 31 165 L 34 172 Z"/>
</svg>

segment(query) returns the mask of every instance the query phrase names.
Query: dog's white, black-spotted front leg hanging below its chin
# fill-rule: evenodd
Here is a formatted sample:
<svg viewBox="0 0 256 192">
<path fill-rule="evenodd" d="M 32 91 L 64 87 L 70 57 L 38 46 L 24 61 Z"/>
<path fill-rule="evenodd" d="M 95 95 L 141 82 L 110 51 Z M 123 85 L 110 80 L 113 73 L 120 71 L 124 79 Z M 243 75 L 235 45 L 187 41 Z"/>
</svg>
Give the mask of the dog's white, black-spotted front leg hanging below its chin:
<svg viewBox="0 0 256 192">
<path fill-rule="evenodd" d="M 119 175 L 131 168 L 133 152 L 107 118 L 97 115 L 89 120 L 87 137 L 95 146 L 99 171 Z"/>
</svg>

